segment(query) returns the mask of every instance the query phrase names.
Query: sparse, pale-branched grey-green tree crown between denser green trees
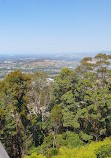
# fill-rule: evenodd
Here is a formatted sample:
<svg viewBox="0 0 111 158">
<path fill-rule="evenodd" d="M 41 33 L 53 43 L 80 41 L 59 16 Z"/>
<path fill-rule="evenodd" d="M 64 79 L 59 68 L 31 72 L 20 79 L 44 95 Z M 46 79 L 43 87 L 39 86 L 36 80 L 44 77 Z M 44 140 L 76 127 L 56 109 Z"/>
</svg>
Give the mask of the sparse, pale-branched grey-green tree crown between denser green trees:
<svg viewBox="0 0 111 158">
<path fill-rule="evenodd" d="M 31 84 L 28 92 L 30 102 L 28 106 L 31 113 L 36 116 L 42 114 L 42 120 L 44 120 L 52 99 L 52 86 L 47 81 L 48 76 L 45 73 L 36 72 L 31 74 L 30 77 Z"/>
</svg>

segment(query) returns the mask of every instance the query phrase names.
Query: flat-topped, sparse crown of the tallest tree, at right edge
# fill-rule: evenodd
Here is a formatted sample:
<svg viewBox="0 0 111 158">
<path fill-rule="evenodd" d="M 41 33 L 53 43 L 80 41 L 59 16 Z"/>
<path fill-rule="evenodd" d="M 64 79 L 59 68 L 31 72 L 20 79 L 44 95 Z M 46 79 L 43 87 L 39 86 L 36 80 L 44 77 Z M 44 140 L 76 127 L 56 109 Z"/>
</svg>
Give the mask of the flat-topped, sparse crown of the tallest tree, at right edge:
<svg viewBox="0 0 111 158">
<path fill-rule="evenodd" d="M 85 57 L 81 60 L 79 67 L 75 69 L 76 73 L 80 76 L 84 75 L 84 72 L 94 72 L 96 74 L 98 82 L 101 86 L 105 87 L 108 78 L 111 55 L 97 54 L 95 57 Z"/>
</svg>

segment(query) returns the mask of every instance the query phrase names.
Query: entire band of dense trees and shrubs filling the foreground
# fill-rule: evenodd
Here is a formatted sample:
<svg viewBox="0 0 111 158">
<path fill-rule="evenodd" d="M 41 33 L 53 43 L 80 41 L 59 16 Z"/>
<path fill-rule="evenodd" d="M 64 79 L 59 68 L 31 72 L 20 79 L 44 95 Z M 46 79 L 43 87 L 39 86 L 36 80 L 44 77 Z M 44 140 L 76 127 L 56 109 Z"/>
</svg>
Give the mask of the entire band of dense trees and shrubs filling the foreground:
<svg viewBox="0 0 111 158">
<path fill-rule="evenodd" d="M 0 82 L 0 140 L 9 156 L 110 157 L 110 67 L 111 55 L 98 54 L 63 68 L 53 83 L 44 73 L 11 72 Z"/>
</svg>

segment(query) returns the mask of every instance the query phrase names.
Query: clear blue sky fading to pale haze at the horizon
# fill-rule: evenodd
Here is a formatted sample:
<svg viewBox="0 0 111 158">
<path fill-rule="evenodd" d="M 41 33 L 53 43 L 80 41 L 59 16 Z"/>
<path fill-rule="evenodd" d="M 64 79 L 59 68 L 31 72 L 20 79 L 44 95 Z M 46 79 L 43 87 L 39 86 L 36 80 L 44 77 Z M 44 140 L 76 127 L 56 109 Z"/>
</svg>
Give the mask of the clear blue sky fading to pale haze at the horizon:
<svg viewBox="0 0 111 158">
<path fill-rule="evenodd" d="M 111 0 L 0 0 L 0 54 L 111 50 Z"/>
</svg>

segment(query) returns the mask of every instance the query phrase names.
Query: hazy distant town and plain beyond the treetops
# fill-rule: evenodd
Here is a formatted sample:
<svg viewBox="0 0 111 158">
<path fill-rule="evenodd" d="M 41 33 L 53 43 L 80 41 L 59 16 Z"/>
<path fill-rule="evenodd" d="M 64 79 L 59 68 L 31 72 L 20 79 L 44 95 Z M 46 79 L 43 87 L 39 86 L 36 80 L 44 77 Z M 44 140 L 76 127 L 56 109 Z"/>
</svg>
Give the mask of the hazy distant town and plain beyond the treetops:
<svg viewBox="0 0 111 158">
<path fill-rule="evenodd" d="M 63 67 L 74 70 L 81 60 L 81 57 L 36 57 L 36 56 L 0 56 L 0 80 L 10 72 L 20 70 L 22 73 L 31 74 L 34 72 L 45 72 L 50 78 L 54 78 Z"/>
</svg>

